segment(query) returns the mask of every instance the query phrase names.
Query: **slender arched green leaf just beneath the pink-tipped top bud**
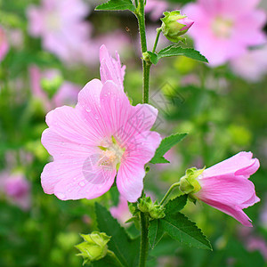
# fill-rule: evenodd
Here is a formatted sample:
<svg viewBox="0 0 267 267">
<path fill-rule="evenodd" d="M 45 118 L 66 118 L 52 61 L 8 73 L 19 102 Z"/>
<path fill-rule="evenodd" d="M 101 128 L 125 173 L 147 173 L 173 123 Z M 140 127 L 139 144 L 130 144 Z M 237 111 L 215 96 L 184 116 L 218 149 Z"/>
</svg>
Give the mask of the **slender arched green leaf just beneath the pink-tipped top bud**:
<svg viewBox="0 0 267 267">
<path fill-rule="evenodd" d="M 151 53 L 150 54 L 150 61 L 153 64 L 157 64 L 158 61 L 162 58 L 166 57 L 173 57 L 173 56 L 185 56 L 187 58 L 201 61 L 201 62 L 208 62 L 206 60 L 206 57 L 199 53 L 197 50 L 194 50 L 193 48 L 182 48 L 181 46 L 176 46 L 176 44 L 171 44 L 167 46 L 166 48 L 159 51 L 159 53 Z"/>
</svg>

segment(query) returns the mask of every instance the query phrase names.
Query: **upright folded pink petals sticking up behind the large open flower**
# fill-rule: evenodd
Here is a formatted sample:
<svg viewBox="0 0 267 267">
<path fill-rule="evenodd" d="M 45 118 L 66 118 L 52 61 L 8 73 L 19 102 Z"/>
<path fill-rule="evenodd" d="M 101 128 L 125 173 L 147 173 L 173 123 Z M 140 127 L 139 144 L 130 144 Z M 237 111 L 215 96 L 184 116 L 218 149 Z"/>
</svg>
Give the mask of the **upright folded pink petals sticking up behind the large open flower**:
<svg viewBox="0 0 267 267">
<path fill-rule="evenodd" d="M 118 53 L 116 61 L 110 56 L 106 46 L 102 44 L 100 48 L 100 61 L 101 82 L 104 84 L 107 81 L 113 81 L 124 91 L 125 66 L 121 67 Z"/>
</svg>

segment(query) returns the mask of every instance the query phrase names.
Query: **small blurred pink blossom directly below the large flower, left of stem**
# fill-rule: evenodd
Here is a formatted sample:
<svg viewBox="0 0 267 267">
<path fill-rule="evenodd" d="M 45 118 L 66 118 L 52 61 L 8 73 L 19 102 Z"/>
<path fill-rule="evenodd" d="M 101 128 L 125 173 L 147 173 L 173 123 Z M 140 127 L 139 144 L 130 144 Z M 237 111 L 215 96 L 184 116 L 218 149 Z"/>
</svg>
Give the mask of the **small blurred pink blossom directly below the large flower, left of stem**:
<svg viewBox="0 0 267 267">
<path fill-rule="evenodd" d="M 132 217 L 132 214 L 129 211 L 127 200 L 121 195 L 119 196 L 118 205 L 111 206 L 109 211 L 110 214 L 121 224 L 125 224 L 125 222 Z"/>
</svg>

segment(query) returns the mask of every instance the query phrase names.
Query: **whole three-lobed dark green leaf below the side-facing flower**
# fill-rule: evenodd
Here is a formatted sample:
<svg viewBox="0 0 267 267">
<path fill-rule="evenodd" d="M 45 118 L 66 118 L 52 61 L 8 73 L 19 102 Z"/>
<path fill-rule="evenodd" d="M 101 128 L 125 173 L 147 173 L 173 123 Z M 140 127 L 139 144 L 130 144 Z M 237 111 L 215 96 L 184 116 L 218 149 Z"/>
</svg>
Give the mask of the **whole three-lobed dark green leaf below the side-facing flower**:
<svg viewBox="0 0 267 267">
<path fill-rule="evenodd" d="M 179 212 L 186 205 L 186 201 L 187 195 L 170 200 L 166 204 L 166 216 L 150 222 L 149 239 L 152 248 L 158 244 L 164 233 L 167 233 L 171 238 L 190 247 L 212 249 L 196 223 Z"/>
</svg>

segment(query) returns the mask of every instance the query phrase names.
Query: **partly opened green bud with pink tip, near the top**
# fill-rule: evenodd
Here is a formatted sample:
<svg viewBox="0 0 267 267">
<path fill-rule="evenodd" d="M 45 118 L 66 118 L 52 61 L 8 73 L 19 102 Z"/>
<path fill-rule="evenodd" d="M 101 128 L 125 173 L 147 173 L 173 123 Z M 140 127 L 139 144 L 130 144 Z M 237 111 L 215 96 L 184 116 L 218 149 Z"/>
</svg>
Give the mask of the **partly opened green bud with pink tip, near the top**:
<svg viewBox="0 0 267 267">
<path fill-rule="evenodd" d="M 178 43 L 183 38 L 180 37 L 185 34 L 193 25 L 194 21 L 187 16 L 182 15 L 180 11 L 164 12 L 165 18 L 162 20 L 162 33 L 168 40 L 173 43 Z"/>
</svg>

